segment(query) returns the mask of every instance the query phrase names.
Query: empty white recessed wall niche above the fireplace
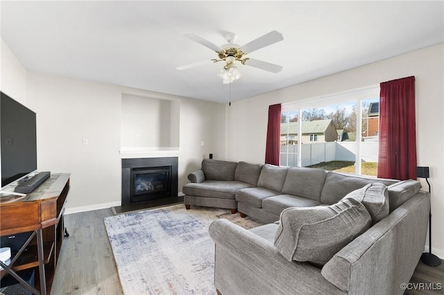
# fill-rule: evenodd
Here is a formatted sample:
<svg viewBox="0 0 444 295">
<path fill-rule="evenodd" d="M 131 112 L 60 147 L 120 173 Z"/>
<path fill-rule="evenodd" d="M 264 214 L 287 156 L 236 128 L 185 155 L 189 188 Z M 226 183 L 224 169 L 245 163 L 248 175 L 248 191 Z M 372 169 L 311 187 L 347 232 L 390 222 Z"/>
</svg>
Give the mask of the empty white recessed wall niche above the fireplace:
<svg viewBox="0 0 444 295">
<path fill-rule="evenodd" d="M 123 93 L 121 149 L 178 149 L 179 103 L 179 100 L 163 100 Z"/>
</svg>

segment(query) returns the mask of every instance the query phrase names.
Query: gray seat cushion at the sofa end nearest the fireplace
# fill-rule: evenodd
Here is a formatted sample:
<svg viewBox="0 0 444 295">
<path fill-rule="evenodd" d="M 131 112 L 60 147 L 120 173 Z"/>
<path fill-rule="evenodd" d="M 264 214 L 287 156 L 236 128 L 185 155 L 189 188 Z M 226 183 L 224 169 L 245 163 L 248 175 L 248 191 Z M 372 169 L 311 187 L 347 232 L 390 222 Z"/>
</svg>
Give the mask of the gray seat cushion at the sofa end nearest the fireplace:
<svg viewBox="0 0 444 295">
<path fill-rule="evenodd" d="M 200 184 L 189 183 L 182 188 L 185 195 L 197 197 L 216 197 L 221 199 L 234 199 L 234 193 L 242 188 L 250 188 L 249 184 L 241 181 L 207 180 Z"/>
</svg>

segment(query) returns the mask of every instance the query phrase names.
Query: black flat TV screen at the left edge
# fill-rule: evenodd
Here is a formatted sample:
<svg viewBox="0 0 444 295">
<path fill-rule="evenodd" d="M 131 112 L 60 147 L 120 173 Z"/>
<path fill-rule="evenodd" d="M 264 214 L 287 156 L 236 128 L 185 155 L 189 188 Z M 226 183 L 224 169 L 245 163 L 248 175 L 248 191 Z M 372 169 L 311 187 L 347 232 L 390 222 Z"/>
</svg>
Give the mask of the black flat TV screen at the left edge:
<svg viewBox="0 0 444 295">
<path fill-rule="evenodd" d="M 37 170 L 35 112 L 1 93 L 1 187 Z"/>
</svg>

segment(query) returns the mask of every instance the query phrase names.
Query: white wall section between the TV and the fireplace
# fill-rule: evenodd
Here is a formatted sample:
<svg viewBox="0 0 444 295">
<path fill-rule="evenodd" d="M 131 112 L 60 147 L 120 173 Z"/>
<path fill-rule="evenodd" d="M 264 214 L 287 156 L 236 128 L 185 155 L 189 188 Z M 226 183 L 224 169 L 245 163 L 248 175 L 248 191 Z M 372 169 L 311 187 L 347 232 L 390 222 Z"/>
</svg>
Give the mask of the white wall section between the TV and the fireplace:
<svg viewBox="0 0 444 295">
<path fill-rule="evenodd" d="M 119 202 L 119 87 L 28 72 L 37 170 L 70 172 L 67 208 Z M 83 145 L 83 138 L 88 141 Z"/>
</svg>

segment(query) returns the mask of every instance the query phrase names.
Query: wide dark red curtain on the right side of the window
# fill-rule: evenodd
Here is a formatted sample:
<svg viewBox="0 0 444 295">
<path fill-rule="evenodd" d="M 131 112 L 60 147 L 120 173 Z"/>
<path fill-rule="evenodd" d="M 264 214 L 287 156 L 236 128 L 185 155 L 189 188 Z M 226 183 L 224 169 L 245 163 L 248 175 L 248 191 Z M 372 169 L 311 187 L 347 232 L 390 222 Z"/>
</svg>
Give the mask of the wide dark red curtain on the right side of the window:
<svg viewBox="0 0 444 295">
<path fill-rule="evenodd" d="M 381 83 L 377 177 L 416 179 L 413 76 Z"/>
</svg>

